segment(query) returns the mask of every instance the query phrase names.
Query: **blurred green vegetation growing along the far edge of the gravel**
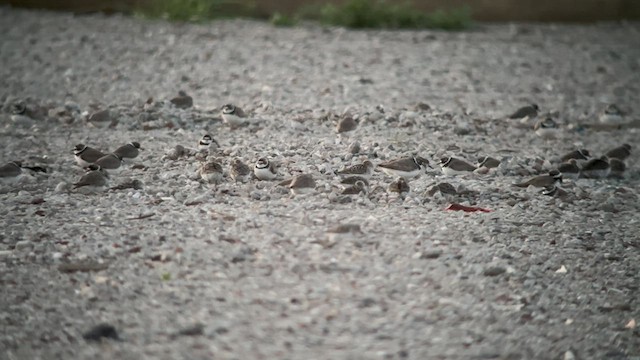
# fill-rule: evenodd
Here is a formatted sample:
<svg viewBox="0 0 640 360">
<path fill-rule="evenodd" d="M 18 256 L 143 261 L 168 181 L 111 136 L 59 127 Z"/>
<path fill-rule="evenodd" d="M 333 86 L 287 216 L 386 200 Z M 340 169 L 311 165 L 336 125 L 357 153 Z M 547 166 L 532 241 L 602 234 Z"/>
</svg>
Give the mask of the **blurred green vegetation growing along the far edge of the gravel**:
<svg viewBox="0 0 640 360">
<path fill-rule="evenodd" d="M 354 29 L 443 29 L 463 30 L 471 25 L 468 7 L 418 11 L 411 2 L 387 0 L 347 0 L 340 5 L 315 3 L 302 6 L 294 15 L 259 14 L 249 0 L 150 0 L 136 13 L 147 18 L 173 21 L 205 21 L 218 18 L 263 18 L 275 26 L 295 26 L 300 20 Z"/>
</svg>

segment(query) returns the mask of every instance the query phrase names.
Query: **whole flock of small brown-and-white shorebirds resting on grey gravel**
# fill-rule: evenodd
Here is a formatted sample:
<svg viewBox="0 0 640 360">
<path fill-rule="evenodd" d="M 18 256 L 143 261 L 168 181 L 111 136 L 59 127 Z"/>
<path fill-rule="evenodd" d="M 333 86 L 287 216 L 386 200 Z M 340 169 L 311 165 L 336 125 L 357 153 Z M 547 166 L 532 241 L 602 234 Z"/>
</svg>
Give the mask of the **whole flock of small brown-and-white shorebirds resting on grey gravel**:
<svg viewBox="0 0 640 360">
<path fill-rule="evenodd" d="M 171 100 L 171 103 L 175 107 L 188 108 L 192 106 L 193 100 L 186 93 L 180 92 L 178 97 Z M 17 112 L 24 111 L 24 107 L 21 106 L 17 106 L 16 109 Z M 378 110 L 383 112 L 382 109 Z M 242 126 L 248 118 L 245 111 L 232 104 L 224 105 L 220 116 L 223 122 L 232 128 Z M 521 124 L 534 121 L 533 130 L 536 135 L 544 139 L 555 137 L 555 133 L 558 130 L 558 124 L 552 117 L 543 116 L 539 118 L 539 108 L 535 104 L 518 109 L 508 116 L 507 120 L 518 121 Z M 623 125 L 625 122 L 624 115 L 615 105 L 608 105 L 600 114 L 599 121 L 603 124 L 613 125 Z M 357 127 L 357 118 L 346 114 L 338 120 L 336 132 L 344 134 L 354 131 Z M 198 141 L 197 149 L 194 149 L 195 156 L 200 161 L 199 177 L 206 183 L 218 184 L 224 181 L 225 170 L 222 162 L 216 158 L 219 149 L 219 143 L 209 134 L 204 135 Z M 140 150 L 142 150 L 140 143 L 135 141 L 120 146 L 111 153 L 103 153 L 84 144 L 76 145 L 73 148 L 75 161 L 87 172 L 73 184 L 73 189 L 85 188 L 93 191 L 102 191 L 108 188 L 109 172 L 118 170 L 123 166 L 125 160 L 136 158 Z M 186 152 L 179 145 L 174 151 L 180 153 L 174 154 L 174 159 Z M 562 195 L 565 192 L 559 185 L 562 183 L 563 178 L 575 180 L 581 177 L 595 179 L 624 177 L 625 160 L 630 154 L 631 146 L 629 144 L 622 144 L 610 149 L 600 157 L 593 157 L 586 149 L 576 149 L 563 155 L 560 158 L 561 163 L 547 174 L 533 177 L 524 182 L 514 183 L 513 186 L 523 188 L 533 186 L 542 188 L 542 193 L 545 195 Z M 441 158 L 439 165 L 442 173 L 447 176 L 469 173 L 486 174 L 491 169 L 498 168 L 501 165 L 501 160 L 483 156 L 478 159 L 477 163 L 472 164 L 464 159 L 449 156 Z M 403 195 L 410 191 L 408 183 L 410 179 L 420 176 L 426 172 L 427 168 L 431 168 L 427 159 L 420 156 L 411 156 L 382 162 L 377 165 L 370 160 L 366 160 L 362 163 L 336 170 L 334 173 L 341 178 L 340 182 L 343 185 L 341 193 L 343 195 L 366 195 L 369 191 L 369 179 L 375 170 L 380 170 L 395 179 L 387 186 L 388 192 Z M 24 170 L 46 172 L 46 169 L 41 167 L 29 167 L 23 165 L 20 161 L 12 161 L 0 167 L 0 179 L 5 183 L 11 182 L 18 179 Z M 229 164 L 228 175 L 235 182 L 246 182 L 251 178 L 272 181 L 279 177 L 277 165 L 267 157 L 259 158 L 253 168 L 236 158 Z M 278 185 L 288 187 L 294 195 L 312 193 L 317 187 L 316 181 L 311 174 L 300 174 L 281 181 Z M 120 185 L 116 188 L 137 188 L 137 186 L 134 182 L 129 185 Z"/>
</svg>

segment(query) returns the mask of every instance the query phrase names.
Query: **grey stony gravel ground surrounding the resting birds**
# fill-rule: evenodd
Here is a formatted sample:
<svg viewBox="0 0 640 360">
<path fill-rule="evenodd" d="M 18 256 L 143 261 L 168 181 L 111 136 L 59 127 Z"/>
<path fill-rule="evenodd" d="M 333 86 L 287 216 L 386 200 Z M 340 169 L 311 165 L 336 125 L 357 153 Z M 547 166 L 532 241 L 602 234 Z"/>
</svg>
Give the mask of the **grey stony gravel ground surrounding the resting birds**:
<svg viewBox="0 0 640 360">
<path fill-rule="evenodd" d="M 608 102 L 640 113 L 638 39 L 637 23 L 348 31 L 0 8 L 0 160 L 49 170 L 0 187 L 0 358 L 638 359 L 635 149 L 624 179 L 567 181 L 565 198 L 510 186 L 576 147 L 638 143 L 633 126 L 583 126 Z M 179 90 L 194 107 L 167 101 Z M 10 116 L 17 101 L 31 118 Z M 556 139 L 504 119 L 531 102 Z M 222 123 L 225 103 L 250 124 Z M 345 111 L 360 125 L 337 136 Z M 207 132 L 225 169 L 268 156 L 316 193 L 204 184 L 197 157 L 165 155 Z M 68 190 L 75 144 L 133 140 L 111 181 L 143 189 Z M 368 196 L 339 195 L 332 170 L 414 154 L 435 169 L 405 199 L 379 172 Z M 503 163 L 445 177 L 443 155 Z M 445 182 L 458 193 L 430 191 Z M 84 340 L 99 323 L 121 341 Z"/>
</svg>

